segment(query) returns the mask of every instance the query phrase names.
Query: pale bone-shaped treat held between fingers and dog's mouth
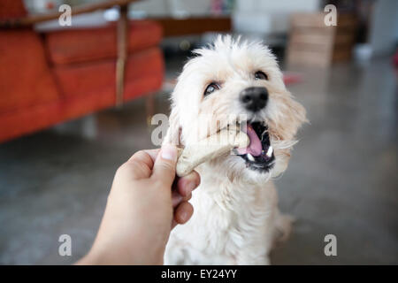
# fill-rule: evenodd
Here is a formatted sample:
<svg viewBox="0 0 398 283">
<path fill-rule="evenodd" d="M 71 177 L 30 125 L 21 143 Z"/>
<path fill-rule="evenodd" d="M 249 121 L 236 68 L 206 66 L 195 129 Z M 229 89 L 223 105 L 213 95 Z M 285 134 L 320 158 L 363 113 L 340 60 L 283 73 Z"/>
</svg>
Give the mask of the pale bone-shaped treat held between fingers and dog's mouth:
<svg viewBox="0 0 398 283">
<path fill-rule="evenodd" d="M 177 176 L 184 177 L 192 172 L 196 166 L 210 159 L 220 157 L 233 148 L 246 148 L 249 145 L 247 134 L 234 128 L 220 130 L 208 138 L 179 149 L 177 161 Z"/>
</svg>

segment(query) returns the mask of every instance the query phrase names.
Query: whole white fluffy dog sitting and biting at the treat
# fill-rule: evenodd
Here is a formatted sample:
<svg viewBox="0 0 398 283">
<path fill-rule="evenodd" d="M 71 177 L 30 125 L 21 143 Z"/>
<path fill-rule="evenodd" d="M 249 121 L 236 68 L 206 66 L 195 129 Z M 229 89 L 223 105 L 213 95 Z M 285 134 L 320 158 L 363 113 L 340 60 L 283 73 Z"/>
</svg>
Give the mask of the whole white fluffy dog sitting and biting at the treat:
<svg viewBox="0 0 398 283">
<path fill-rule="evenodd" d="M 272 244 L 290 229 L 279 213 L 272 178 L 287 168 L 305 110 L 287 91 L 278 63 L 261 42 L 218 36 L 194 51 L 172 92 L 165 142 L 180 146 L 203 138 L 198 127 L 245 114 L 250 144 L 196 168 L 201 185 L 193 217 L 170 236 L 165 264 L 269 264 Z M 207 121 L 198 119 L 210 115 Z M 209 133 L 208 133 L 209 134 Z"/>
</svg>

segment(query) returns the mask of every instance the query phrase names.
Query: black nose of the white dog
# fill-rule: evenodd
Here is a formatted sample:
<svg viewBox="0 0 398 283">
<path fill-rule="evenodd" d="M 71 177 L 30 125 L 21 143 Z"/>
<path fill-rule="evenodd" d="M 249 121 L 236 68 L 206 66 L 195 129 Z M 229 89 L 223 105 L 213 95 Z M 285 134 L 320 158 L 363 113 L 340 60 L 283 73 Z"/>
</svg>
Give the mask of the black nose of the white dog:
<svg viewBox="0 0 398 283">
<path fill-rule="evenodd" d="M 239 98 L 247 110 L 260 111 L 268 102 L 268 90 L 259 87 L 245 88 L 241 91 Z"/>
</svg>

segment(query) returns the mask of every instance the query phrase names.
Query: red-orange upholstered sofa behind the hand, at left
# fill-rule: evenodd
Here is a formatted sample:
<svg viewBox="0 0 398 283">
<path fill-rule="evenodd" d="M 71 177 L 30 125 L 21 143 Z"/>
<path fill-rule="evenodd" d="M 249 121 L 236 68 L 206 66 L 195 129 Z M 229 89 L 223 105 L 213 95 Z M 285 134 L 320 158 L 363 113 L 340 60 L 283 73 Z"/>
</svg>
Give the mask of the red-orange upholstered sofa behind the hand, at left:
<svg viewBox="0 0 398 283">
<path fill-rule="evenodd" d="M 22 1 L 2 0 L 0 19 L 26 15 Z M 115 104 L 116 26 L 37 34 L 0 29 L 0 142 Z M 161 88 L 161 27 L 129 22 L 123 100 Z"/>
</svg>

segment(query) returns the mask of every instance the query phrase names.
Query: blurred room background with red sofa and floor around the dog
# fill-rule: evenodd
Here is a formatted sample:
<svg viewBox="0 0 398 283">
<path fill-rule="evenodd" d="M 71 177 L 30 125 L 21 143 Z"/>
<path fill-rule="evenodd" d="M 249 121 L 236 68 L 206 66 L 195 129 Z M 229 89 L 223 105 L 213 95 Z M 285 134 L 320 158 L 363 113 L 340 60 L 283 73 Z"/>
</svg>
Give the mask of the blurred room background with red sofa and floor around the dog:
<svg viewBox="0 0 398 283">
<path fill-rule="evenodd" d="M 394 0 L 2 0 L 0 264 L 87 253 L 114 172 L 154 147 L 151 116 L 169 113 L 190 50 L 216 34 L 264 40 L 310 119 L 276 180 L 296 221 L 272 264 L 398 264 Z"/>
</svg>

